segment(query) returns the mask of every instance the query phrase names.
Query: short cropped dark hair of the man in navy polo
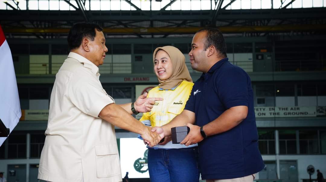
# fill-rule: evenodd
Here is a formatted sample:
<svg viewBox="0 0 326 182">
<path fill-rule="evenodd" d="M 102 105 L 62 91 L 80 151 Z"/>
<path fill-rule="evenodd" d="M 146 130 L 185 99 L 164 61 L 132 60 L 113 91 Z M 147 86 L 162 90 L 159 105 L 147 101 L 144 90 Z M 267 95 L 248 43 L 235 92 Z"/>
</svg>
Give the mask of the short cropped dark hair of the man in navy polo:
<svg viewBox="0 0 326 182">
<path fill-rule="evenodd" d="M 206 39 L 204 40 L 204 51 L 209 46 L 214 46 L 217 51 L 219 51 L 223 56 L 227 57 L 226 54 L 226 43 L 223 37 L 222 32 L 217 28 L 203 28 L 197 31 L 206 32 Z"/>
</svg>

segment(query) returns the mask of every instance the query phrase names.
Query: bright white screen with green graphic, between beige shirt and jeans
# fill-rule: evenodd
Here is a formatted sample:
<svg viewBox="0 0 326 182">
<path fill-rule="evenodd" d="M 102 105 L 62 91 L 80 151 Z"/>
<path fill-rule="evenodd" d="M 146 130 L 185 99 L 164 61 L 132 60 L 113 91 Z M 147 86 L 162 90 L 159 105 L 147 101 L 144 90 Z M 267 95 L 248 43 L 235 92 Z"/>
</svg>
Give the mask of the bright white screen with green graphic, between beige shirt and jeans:
<svg viewBox="0 0 326 182">
<path fill-rule="evenodd" d="M 148 150 L 138 138 L 120 138 L 120 162 L 122 177 L 149 178 L 147 166 Z"/>
</svg>

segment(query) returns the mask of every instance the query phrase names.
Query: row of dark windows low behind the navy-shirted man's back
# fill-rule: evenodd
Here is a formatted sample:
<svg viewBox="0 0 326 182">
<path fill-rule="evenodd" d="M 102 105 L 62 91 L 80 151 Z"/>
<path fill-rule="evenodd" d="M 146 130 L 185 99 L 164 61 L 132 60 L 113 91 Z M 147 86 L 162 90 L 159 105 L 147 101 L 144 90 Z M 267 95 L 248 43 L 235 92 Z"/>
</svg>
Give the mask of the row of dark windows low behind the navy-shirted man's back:
<svg viewBox="0 0 326 182">
<path fill-rule="evenodd" d="M 275 154 L 275 131 L 258 130 L 261 154 Z M 326 154 L 326 130 L 278 130 L 279 154 Z"/>
</svg>

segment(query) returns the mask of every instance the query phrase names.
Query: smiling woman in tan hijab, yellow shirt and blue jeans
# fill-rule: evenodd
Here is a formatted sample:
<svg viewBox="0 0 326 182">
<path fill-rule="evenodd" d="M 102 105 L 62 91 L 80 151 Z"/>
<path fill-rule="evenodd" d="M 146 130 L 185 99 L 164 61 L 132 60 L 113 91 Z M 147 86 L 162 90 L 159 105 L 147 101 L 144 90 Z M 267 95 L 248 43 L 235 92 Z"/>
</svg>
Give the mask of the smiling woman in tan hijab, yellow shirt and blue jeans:
<svg viewBox="0 0 326 182">
<path fill-rule="evenodd" d="M 158 47 L 153 54 L 154 72 L 159 84 L 147 97 L 160 97 L 151 112 L 144 113 L 140 121 L 145 125 L 162 126 L 169 123 L 185 108 L 194 85 L 185 56 L 173 46 Z M 197 144 L 172 144 L 171 137 L 148 147 L 148 169 L 151 182 L 198 182 Z"/>
</svg>

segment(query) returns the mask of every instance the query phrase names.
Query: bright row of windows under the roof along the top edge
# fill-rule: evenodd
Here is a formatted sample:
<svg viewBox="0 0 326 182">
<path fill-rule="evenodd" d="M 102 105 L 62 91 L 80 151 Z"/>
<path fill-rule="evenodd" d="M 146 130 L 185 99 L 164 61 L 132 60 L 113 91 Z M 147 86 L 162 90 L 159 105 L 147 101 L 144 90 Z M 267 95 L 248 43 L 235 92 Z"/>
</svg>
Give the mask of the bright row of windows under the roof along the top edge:
<svg viewBox="0 0 326 182">
<path fill-rule="evenodd" d="M 76 1 L 69 1 L 75 7 Z M 291 0 L 278 1 L 278 0 L 236 0 L 230 6 L 228 5 L 231 0 L 224 0 L 221 8 L 225 9 L 278 9 L 284 8 L 316 8 L 326 7 L 325 0 Z M 8 1 L 8 3 L 17 9 L 21 10 L 76 10 L 63 0 L 26 0 Z M 161 1 L 140 1 L 131 0 L 135 6 L 141 10 L 160 10 L 170 3 L 170 0 Z M 217 1 L 217 4 L 219 1 Z M 177 0 L 165 10 L 212 10 L 215 9 L 215 1 L 213 0 Z M 228 5 L 228 6 L 227 6 Z M 136 10 L 124 0 L 86 0 L 86 10 Z M 226 7 L 227 6 L 227 7 Z M 12 10 L 10 6 L 5 3 L 0 3 L 0 9 Z"/>
</svg>

